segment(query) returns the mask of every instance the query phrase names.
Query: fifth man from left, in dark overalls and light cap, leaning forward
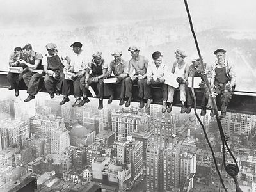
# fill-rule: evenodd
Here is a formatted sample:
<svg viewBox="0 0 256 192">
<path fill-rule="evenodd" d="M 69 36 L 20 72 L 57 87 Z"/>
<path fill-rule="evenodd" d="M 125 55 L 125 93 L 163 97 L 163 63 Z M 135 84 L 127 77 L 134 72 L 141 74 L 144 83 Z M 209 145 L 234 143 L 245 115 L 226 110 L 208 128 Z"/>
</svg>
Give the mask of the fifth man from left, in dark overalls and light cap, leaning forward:
<svg viewBox="0 0 256 192">
<path fill-rule="evenodd" d="M 88 93 L 88 87 L 91 86 L 95 93 L 98 93 L 99 106 L 98 109 L 103 109 L 103 97 L 104 97 L 104 83 L 103 77 L 108 69 L 108 64 L 102 58 L 102 52 L 96 51 L 92 54 L 92 61 L 88 63 L 85 76 L 80 80 L 82 86 L 83 97 L 86 99 Z M 90 74 L 90 71 L 92 73 Z M 86 100 L 82 100 L 78 106 L 81 107 L 86 103 Z"/>
</svg>

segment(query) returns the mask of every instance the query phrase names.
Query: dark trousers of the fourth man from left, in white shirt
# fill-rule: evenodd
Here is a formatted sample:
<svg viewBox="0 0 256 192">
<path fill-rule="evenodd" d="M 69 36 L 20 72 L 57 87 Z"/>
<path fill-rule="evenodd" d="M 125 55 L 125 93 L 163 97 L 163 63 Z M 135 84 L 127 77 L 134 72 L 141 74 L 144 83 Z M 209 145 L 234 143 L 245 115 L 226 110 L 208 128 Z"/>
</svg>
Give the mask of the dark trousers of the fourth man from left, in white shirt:
<svg viewBox="0 0 256 192">
<path fill-rule="evenodd" d="M 68 80 L 68 79 L 64 79 L 63 80 L 63 86 L 62 86 L 62 95 L 70 95 L 70 88 L 71 88 L 71 84 L 73 84 L 74 86 L 74 97 L 81 97 L 81 92 L 82 92 L 82 86 L 80 84 L 80 79 L 82 77 L 77 78 L 76 80 L 72 81 L 72 80 Z"/>
</svg>

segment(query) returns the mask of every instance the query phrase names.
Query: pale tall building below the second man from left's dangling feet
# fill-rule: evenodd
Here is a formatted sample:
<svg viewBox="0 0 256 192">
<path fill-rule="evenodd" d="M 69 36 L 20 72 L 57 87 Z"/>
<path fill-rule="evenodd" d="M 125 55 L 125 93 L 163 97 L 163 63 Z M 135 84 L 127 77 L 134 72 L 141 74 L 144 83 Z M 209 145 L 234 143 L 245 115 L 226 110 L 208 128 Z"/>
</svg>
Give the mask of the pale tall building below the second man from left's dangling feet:
<svg viewBox="0 0 256 192">
<path fill-rule="evenodd" d="M 22 120 L 29 125 L 29 118 L 36 115 L 35 101 L 24 102 L 21 99 L 17 99 L 14 103 L 15 119 Z"/>
</svg>

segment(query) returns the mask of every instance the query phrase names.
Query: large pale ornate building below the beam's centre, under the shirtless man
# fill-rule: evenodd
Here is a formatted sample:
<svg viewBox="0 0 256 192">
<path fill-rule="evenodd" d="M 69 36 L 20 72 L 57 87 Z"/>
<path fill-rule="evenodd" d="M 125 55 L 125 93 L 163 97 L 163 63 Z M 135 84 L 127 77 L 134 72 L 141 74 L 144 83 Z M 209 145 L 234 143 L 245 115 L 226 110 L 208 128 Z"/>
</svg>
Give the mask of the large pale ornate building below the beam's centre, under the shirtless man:
<svg viewBox="0 0 256 192">
<path fill-rule="evenodd" d="M 116 140 L 121 141 L 127 134 L 133 132 L 147 132 L 149 130 L 150 118 L 147 113 L 137 111 L 125 111 L 124 109 L 111 113 L 112 131 L 115 132 Z"/>
</svg>

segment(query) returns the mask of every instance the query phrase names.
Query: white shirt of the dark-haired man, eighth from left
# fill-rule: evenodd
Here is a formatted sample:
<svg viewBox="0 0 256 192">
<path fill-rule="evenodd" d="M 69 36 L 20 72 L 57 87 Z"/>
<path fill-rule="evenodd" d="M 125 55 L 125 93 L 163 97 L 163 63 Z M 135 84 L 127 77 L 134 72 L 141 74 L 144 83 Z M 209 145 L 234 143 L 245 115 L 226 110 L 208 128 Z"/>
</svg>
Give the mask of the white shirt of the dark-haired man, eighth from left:
<svg viewBox="0 0 256 192">
<path fill-rule="evenodd" d="M 167 71 L 168 68 L 165 64 L 161 63 L 157 68 L 155 62 L 152 61 L 148 64 L 147 76 L 153 77 L 153 79 L 156 80 L 157 78 L 163 77 Z"/>
</svg>

